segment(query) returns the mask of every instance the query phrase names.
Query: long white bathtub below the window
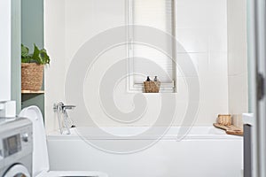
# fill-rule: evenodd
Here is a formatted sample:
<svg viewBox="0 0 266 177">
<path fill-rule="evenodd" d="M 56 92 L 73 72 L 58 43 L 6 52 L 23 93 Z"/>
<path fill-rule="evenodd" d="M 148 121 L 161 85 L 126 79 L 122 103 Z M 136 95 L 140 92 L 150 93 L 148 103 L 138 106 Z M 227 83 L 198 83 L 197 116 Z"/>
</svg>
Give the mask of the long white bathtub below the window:
<svg viewBox="0 0 266 177">
<path fill-rule="evenodd" d="M 84 136 L 89 129 L 90 133 L 93 132 L 91 127 L 80 128 Z M 145 128 L 107 127 L 106 131 L 121 135 L 121 138 L 115 139 L 105 135 L 88 137 L 90 136 L 92 142 L 113 143 L 113 146 L 158 138 L 157 135 L 145 135 L 143 138 L 129 139 L 129 135 L 136 135 Z M 180 127 L 171 127 L 153 146 L 130 154 L 98 150 L 77 135 L 75 129 L 72 129 L 72 135 L 51 133 L 48 135 L 51 170 L 102 171 L 110 177 L 241 176 L 242 137 L 225 135 L 223 130 L 215 127 L 192 127 L 182 141 L 176 141 L 179 129 Z"/>
</svg>

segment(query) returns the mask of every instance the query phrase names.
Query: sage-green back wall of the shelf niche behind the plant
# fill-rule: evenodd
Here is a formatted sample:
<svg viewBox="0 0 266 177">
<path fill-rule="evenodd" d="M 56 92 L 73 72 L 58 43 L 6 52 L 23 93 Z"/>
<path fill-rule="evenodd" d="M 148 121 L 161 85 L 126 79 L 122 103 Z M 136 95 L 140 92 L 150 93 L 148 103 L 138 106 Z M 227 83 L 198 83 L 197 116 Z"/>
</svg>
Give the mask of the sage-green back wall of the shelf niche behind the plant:
<svg viewBox="0 0 266 177">
<path fill-rule="evenodd" d="M 43 0 L 21 0 L 21 42 L 30 52 L 34 43 L 43 48 Z M 44 94 L 23 94 L 22 108 L 37 105 L 44 116 Z"/>
</svg>

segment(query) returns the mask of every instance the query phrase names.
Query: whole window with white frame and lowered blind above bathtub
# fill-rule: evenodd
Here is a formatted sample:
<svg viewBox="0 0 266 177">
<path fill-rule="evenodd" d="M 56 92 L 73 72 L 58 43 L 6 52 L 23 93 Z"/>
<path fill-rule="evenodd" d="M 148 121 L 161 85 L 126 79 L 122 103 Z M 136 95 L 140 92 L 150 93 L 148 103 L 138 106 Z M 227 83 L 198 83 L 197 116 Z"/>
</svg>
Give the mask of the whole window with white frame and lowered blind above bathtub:
<svg viewBox="0 0 266 177">
<path fill-rule="evenodd" d="M 174 0 L 128 0 L 128 2 L 129 25 L 155 27 L 175 36 Z M 134 42 L 138 34 L 134 27 L 129 27 L 131 27 L 128 33 L 130 42 L 128 46 L 129 72 L 134 73 L 129 76 L 129 89 L 143 89 L 143 81 L 146 80 L 146 76 L 150 76 L 151 79 L 158 76 L 161 82 L 160 90 L 174 92 L 176 88 L 175 61 L 152 46 Z M 174 43 L 164 43 L 173 54 L 175 52 Z M 141 58 L 148 58 L 156 65 L 150 65 L 149 60 Z"/>
</svg>

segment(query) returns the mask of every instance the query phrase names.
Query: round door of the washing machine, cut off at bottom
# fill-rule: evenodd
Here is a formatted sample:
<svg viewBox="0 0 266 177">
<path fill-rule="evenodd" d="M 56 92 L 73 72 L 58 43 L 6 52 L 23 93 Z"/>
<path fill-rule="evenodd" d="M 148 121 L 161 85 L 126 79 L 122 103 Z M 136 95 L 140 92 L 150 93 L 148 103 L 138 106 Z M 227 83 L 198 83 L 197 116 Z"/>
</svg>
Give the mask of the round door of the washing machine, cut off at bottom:
<svg viewBox="0 0 266 177">
<path fill-rule="evenodd" d="M 27 168 L 24 165 L 12 165 L 5 173 L 3 177 L 30 177 Z"/>
</svg>

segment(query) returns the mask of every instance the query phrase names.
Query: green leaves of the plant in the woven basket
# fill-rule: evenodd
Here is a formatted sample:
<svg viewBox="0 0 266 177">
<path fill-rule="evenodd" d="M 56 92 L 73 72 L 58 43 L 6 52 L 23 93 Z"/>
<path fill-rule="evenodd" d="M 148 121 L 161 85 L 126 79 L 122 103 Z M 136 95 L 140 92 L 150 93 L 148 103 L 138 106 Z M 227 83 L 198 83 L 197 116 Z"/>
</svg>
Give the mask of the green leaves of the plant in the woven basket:
<svg viewBox="0 0 266 177">
<path fill-rule="evenodd" d="M 35 45 L 34 52 L 32 54 L 29 54 L 28 52 L 28 48 L 21 43 L 22 63 L 36 63 L 39 65 L 50 64 L 50 57 L 48 56 L 46 50 L 39 50 L 39 48 Z"/>
</svg>

